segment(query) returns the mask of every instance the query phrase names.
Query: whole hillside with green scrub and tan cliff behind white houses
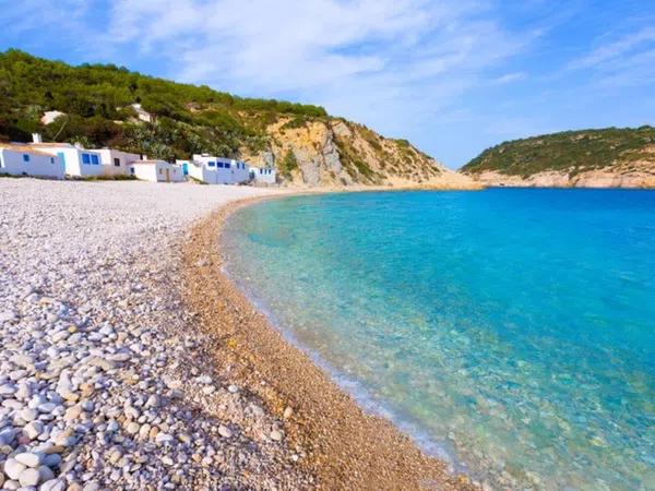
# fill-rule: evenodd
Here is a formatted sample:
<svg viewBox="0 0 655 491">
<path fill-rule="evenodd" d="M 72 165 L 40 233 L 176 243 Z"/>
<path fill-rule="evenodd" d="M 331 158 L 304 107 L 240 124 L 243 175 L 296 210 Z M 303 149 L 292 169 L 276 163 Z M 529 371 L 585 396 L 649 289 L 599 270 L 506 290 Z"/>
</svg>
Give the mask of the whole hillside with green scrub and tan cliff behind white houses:
<svg viewBox="0 0 655 491">
<path fill-rule="evenodd" d="M 142 121 L 132 108 L 152 116 Z M 46 111 L 62 112 L 44 124 Z M 171 160 L 191 154 L 274 165 L 300 185 L 471 187 L 407 141 L 385 139 L 324 108 L 242 98 L 112 64 L 72 67 L 28 53 L 0 53 L 0 140 L 112 146 Z"/>
</svg>

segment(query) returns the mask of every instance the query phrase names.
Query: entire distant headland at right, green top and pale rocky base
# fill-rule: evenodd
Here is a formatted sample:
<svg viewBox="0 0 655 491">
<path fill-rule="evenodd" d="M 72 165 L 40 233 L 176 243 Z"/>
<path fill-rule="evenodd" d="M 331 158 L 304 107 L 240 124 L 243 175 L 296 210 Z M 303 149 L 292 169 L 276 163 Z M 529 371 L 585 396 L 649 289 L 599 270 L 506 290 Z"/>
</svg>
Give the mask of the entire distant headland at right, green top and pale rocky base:
<svg viewBox="0 0 655 491">
<path fill-rule="evenodd" d="M 581 130 L 504 142 L 461 172 L 489 185 L 655 187 L 655 128 Z"/>
</svg>

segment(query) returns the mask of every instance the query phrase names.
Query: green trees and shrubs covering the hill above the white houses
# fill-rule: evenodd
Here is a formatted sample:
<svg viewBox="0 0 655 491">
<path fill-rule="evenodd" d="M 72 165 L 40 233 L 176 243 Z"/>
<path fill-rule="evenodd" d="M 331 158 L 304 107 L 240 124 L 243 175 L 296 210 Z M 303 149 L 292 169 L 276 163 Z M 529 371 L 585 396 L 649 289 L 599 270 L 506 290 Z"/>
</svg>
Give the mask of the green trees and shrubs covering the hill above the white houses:
<svg viewBox="0 0 655 491">
<path fill-rule="evenodd" d="M 135 119 L 140 103 L 153 123 Z M 44 125 L 44 111 L 66 116 Z M 0 52 L 0 140 L 47 140 L 110 145 L 156 158 L 193 153 L 236 156 L 239 148 L 266 147 L 266 125 L 279 117 L 299 124 L 325 118 L 325 109 L 274 99 L 253 99 L 130 72 L 114 64 L 71 67 L 10 49 Z M 289 121 L 289 123 L 290 123 Z"/>
</svg>

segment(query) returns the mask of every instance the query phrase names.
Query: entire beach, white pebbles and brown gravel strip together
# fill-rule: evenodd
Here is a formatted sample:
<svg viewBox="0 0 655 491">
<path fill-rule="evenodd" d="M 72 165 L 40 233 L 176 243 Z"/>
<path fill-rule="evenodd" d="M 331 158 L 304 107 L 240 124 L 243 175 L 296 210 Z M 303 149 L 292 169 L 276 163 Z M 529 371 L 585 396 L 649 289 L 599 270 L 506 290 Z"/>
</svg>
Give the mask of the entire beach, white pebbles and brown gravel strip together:
<svg viewBox="0 0 655 491">
<path fill-rule="evenodd" d="M 281 193 L 0 179 L 0 487 L 469 487 L 221 273 L 234 203 Z"/>
</svg>

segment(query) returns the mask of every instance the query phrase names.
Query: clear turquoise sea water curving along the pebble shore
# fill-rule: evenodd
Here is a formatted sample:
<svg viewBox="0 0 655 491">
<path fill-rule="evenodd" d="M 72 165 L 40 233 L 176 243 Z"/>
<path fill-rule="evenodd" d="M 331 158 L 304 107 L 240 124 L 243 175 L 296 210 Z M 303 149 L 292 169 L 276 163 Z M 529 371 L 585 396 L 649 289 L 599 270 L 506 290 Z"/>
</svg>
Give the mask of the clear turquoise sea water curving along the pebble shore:
<svg viewBox="0 0 655 491">
<path fill-rule="evenodd" d="M 296 196 L 226 230 L 286 335 L 457 470 L 655 489 L 655 192 Z"/>
</svg>

